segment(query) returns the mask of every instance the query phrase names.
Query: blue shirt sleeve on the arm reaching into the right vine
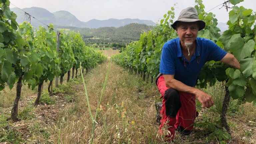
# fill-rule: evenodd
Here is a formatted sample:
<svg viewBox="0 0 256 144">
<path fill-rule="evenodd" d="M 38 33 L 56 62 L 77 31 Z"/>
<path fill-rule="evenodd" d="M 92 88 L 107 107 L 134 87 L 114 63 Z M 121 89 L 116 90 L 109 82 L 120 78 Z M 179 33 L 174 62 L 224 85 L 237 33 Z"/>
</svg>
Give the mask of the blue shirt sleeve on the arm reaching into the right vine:
<svg viewBox="0 0 256 144">
<path fill-rule="evenodd" d="M 208 40 L 208 49 L 209 56 L 207 61 L 220 61 L 227 54 L 226 51 L 224 51 L 211 40 Z"/>
</svg>

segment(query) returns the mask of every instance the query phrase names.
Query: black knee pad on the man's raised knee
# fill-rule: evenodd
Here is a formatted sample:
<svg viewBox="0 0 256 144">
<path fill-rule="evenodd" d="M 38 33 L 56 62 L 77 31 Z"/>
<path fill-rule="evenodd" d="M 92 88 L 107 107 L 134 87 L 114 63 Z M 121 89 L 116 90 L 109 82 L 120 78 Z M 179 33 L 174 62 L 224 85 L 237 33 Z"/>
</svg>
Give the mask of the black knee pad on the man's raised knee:
<svg viewBox="0 0 256 144">
<path fill-rule="evenodd" d="M 181 107 L 179 92 L 175 89 L 169 88 L 164 93 L 165 114 L 170 117 L 176 117 L 178 110 Z"/>
</svg>

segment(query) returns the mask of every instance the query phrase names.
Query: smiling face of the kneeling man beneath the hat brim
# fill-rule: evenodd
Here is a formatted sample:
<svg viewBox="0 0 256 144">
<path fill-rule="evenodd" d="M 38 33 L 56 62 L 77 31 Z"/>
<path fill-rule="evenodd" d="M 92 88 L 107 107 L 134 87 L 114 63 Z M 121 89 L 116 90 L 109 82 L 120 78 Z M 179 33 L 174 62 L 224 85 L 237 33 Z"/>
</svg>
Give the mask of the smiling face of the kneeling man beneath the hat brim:
<svg viewBox="0 0 256 144">
<path fill-rule="evenodd" d="M 176 32 L 183 43 L 193 43 L 197 38 L 198 24 L 196 22 L 178 23 Z"/>
</svg>

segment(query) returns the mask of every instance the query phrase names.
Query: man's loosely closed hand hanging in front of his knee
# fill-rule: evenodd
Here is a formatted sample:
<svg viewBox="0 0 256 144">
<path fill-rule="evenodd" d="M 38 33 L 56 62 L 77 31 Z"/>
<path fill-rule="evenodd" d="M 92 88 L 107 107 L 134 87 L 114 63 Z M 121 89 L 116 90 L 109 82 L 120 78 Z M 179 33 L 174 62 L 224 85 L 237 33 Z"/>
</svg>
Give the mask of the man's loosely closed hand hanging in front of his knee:
<svg viewBox="0 0 256 144">
<path fill-rule="evenodd" d="M 196 98 L 202 103 L 202 107 L 211 107 L 214 105 L 214 102 L 212 100 L 212 97 L 210 95 L 208 95 L 207 93 L 196 89 L 194 92 Z"/>
</svg>

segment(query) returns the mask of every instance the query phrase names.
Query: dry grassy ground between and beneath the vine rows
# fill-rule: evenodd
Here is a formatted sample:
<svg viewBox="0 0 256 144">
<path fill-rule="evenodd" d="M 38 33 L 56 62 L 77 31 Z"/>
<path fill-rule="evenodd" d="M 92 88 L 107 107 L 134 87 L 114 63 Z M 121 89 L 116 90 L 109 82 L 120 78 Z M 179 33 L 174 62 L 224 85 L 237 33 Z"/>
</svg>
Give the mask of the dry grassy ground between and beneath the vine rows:
<svg viewBox="0 0 256 144">
<path fill-rule="evenodd" d="M 103 94 L 97 119 L 94 143 L 164 143 L 158 134 L 155 122 L 155 102 L 160 101 L 154 84 L 142 81 L 137 75 L 112 62 L 97 66 L 85 75 L 88 96 L 93 115 L 110 66 L 106 90 Z M 78 73 L 80 75 L 80 73 Z M 5 89 L 0 92 L 0 143 L 89 143 L 92 122 L 88 113 L 81 77 L 54 88 L 54 96 L 49 97 L 44 84 L 42 105 L 33 107 L 36 91 L 22 88 L 19 117 L 22 121 L 6 121 L 10 115 L 15 91 Z M 196 132 L 189 136 L 176 133 L 174 143 L 217 144 L 223 134 L 217 128 L 219 111 L 224 95 L 221 83 L 204 89 L 214 96 L 215 106 L 200 109 L 196 119 Z M 238 105 L 232 100 L 228 112 L 231 126 L 230 144 L 256 143 L 256 108 L 250 103 Z M 219 132 L 219 133 L 217 133 Z"/>
</svg>

